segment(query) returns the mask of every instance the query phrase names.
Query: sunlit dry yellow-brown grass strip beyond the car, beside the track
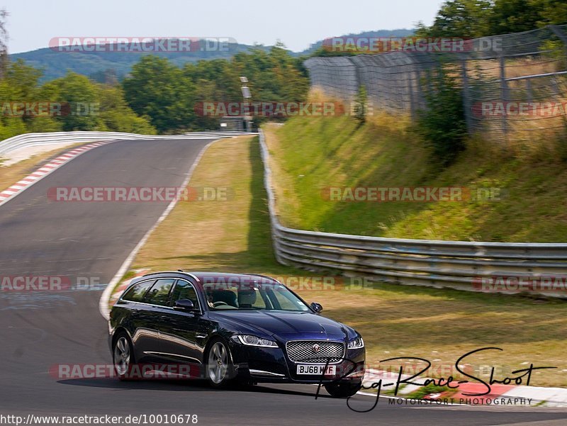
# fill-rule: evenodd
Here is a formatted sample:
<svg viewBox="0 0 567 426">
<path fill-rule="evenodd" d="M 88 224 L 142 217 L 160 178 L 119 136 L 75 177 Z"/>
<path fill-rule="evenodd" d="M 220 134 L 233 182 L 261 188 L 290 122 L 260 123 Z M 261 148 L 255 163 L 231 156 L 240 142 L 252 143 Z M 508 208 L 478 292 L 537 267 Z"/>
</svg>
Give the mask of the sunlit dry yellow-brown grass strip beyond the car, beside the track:
<svg viewBox="0 0 567 426">
<path fill-rule="evenodd" d="M 247 249 L 251 232 L 251 138 L 241 136 L 215 142 L 191 178 L 191 186 L 228 186 L 234 196 L 228 201 L 180 201 L 137 254 L 133 269 L 230 269 L 232 259 Z M 219 256 L 201 255 L 205 253 Z M 221 253 L 225 255 L 225 264 L 219 262 Z"/>
</svg>

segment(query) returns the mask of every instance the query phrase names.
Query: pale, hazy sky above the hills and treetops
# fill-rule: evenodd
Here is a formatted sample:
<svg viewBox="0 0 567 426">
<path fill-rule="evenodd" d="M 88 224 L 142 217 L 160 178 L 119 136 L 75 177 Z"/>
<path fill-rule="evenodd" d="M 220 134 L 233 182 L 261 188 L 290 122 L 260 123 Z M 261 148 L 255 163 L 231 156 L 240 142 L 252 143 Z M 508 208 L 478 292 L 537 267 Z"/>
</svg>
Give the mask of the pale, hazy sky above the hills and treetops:
<svg viewBox="0 0 567 426">
<path fill-rule="evenodd" d="M 442 0 L 0 0 L 9 53 L 56 37 L 233 38 L 294 51 L 327 37 L 430 25 Z"/>
</svg>

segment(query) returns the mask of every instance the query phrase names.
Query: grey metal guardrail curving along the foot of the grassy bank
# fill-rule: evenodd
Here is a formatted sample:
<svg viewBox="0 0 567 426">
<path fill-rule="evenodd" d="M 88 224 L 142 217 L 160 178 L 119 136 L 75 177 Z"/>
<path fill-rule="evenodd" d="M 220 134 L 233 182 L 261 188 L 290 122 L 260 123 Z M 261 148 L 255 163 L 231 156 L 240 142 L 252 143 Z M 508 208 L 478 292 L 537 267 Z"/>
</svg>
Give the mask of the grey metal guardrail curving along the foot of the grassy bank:
<svg viewBox="0 0 567 426">
<path fill-rule="evenodd" d="M 517 277 L 534 285 L 529 291 L 567 297 L 566 243 L 404 240 L 286 228 L 276 213 L 262 131 L 260 145 L 274 251 L 282 264 L 372 281 L 504 293 L 514 290 L 512 277 Z"/>
</svg>

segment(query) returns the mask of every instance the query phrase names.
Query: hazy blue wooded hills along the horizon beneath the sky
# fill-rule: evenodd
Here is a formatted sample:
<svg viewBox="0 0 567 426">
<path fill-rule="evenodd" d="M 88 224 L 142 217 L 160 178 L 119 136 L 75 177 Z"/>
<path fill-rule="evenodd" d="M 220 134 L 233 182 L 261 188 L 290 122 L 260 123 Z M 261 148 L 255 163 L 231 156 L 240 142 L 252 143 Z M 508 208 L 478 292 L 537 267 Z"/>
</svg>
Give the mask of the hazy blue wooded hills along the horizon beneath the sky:
<svg viewBox="0 0 567 426">
<path fill-rule="evenodd" d="M 364 31 L 357 34 L 348 34 L 348 37 L 403 37 L 412 34 L 412 30 L 377 30 L 377 31 Z M 311 55 L 322 45 L 323 40 L 313 43 L 308 49 L 302 52 L 291 52 L 294 56 Z M 201 40 L 203 46 L 203 40 Z M 111 45 L 109 45 L 111 46 Z M 160 57 L 167 57 L 175 65 L 181 66 L 186 62 L 196 62 L 198 60 L 215 60 L 215 59 L 228 59 L 235 55 L 237 52 L 246 52 L 251 47 L 259 47 L 261 49 L 269 50 L 271 46 L 251 46 L 240 43 L 228 43 L 224 49 L 196 49 L 191 52 L 155 52 L 153 55 Z M 80 49 L 79 49 L 80 50 Z M 50 47 L 43 49 L 31 50 L 30 52 L 15 53 L 9 55 L 11 60 L 23 59 L 28 65 L 43 69 L 44 74 L 42 81 L 46 82 L 58 77 L 62 77 L 67 70 L 84 74 L 91 79 L 99 82 L 108 82 L 115 79 L 123 79 L 125 75 L 130 72 L 132 66 L 140 60 L 143 55 L 150 54 L 149 52 L 117 52 L 108 51 L 110 48 L 105 49 L 103 52 L 85 52 L 77 51 L 60 52 Z"/>
</svg>

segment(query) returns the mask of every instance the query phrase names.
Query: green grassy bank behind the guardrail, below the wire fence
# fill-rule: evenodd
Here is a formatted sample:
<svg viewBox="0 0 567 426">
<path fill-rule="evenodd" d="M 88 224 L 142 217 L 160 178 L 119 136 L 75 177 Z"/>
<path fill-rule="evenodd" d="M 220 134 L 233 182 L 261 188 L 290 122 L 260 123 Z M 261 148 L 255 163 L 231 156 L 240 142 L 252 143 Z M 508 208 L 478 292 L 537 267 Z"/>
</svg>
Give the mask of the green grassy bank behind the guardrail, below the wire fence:
<svg viewBox="0 0 567 426">
<path fill-rule="evenodd" d="M 279 212 L 293 228 L 378 237 L 494 242 L 567 238 L 567 164 L 534 141 L 514 155 L 469 141 L 447 169 L 405 120 L 380 117 L 293 118 L 266 128 Z M 328 201 L 329 187 L 458 186 L 498 188 L 500 200 L 453 202 Z"/>
</svg>

